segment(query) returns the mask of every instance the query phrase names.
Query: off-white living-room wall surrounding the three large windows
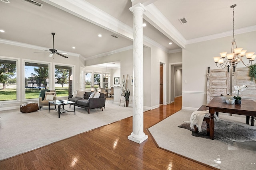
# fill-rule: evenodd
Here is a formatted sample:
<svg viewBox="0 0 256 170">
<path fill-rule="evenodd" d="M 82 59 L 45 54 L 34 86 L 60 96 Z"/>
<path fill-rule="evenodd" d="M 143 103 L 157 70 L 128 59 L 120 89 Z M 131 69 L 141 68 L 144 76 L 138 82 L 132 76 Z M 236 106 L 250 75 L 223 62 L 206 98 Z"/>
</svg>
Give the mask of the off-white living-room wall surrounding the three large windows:
<svg viewBox="0 0 256 170">
<path fill-rule="evenodd" d="M 80 90 L 80 66 L 84 67 L 84 60 L 79 57 L 74 56 L 68 56 L 67 59 L 64 59 L 63 57 L 59 55 L 54 55 L 53 58 L 49 58 L 49 53 L 34 53 L 39 50 L 36 49 L 30 49 L 26 47 L 19 47 L 15 45 L 8 45 L 4 43 L 0 43 L 0 57 L 11 57 L 19 60 L 19 64 L 17 65 L 17 90 L 18 90 L 18 101 L 12 101 L 12 102 L 6 102 L 2 101 L 0 110 L 4 110 L 4 108 L 9 109 L 15 109 L 19 108 L 21 104 L 26 102 L 38 102 L 38 99 L 33 100 L 24 100 L 22 96 L 25 96 L 23 94 L 23 80 L 20 78 L 22 76 L 22 60 L 33 60 L 33 61 L 42 61 L 42 62 L 49 62 L 50 63 L 50 69 L 53 70 L 54 63 L 55 64 L 68 64 L 68 65 L 74 65 L 73 74 L 73 81 L 74 81 L 74 88 L 73 90 Z M 54 80 L 54 76 L 52 76 L 52 80 Z M 50 90 L 52 90 L 53 85 L 50 86 Z M 58 97 L 58 96 L 57 96 Z"/>
</svg>

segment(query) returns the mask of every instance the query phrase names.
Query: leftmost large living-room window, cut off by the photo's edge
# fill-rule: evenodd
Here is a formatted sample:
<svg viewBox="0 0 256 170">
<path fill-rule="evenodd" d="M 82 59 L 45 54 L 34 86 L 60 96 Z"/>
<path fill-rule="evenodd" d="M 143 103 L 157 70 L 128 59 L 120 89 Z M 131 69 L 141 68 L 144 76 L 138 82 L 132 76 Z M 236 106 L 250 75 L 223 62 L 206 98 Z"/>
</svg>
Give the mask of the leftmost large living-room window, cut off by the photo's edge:
<svg viewBox="0 0 256 170">
<path fill-rule="evenodd" d="M 17 60 L 0 59 L 0 101 L 17 100 Z"/>
</svg>

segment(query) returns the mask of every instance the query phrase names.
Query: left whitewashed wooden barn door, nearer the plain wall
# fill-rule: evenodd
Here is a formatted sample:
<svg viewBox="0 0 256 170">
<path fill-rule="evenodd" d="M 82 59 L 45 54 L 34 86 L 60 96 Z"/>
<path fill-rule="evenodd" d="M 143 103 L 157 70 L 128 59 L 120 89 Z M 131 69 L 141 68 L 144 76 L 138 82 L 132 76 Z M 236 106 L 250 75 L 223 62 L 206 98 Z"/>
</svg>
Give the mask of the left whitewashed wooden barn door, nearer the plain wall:
<svg viewBox="0 0 256 170">
<path fill-rule="evenodd" d="M 227 69 L 207 70 L 207 104 L 220 94 L 230 94 L 230 72 Z"/>
</svg>

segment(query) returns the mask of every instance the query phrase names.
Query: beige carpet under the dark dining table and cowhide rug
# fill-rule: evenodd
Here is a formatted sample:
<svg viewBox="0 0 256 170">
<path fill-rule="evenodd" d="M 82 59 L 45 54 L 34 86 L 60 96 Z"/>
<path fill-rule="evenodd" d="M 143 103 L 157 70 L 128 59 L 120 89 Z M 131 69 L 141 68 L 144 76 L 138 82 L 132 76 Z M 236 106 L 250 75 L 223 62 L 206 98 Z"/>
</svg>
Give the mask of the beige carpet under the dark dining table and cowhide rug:
<svg viewBox="0 0 256 170">
<path fill-rule="evenodd" d="M 178 127 L 184 121 L 190 121 L 192 112 L 182 109 L 148 129 L 160 148 L 222 170 L 256 170 L 255 141 L 228 145 L 192 136 L 188 129 Z M 245 124 L 245 117 L 228 116 L 224 113 L 220 113 L 219 117 L 256 129 L 255 125 L 252 127 Z"/>
</svg>

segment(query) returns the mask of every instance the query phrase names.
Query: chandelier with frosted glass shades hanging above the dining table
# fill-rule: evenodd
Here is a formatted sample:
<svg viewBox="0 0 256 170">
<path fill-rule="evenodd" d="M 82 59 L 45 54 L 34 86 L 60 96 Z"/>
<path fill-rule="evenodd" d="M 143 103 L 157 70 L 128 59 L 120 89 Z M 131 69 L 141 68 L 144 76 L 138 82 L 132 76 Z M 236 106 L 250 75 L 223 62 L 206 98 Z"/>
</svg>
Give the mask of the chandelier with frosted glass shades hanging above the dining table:
<svg viewBox="0 0 256 170">
<path fill-rule="evenodd" d="M 216 63 L 217 67 L 225 68 L 227 64 L 230 64 L 230 66 L 233 66 L 234 72 L 236 68 L 236 64 L 243 63 L 245 66 L 249 66 L 252 64 L 252 61 L 255 60 L 256 55 L 254 55 L 254 52 L 246 53 L 246 50 L 242 50 L 243 48 L 237 48 L 236 41 L 235 41 L 235 26 L 234 26 L 234 7 L 236 4 L 230 6 L 230 8 L 233 8 L 233 41 L 231 45 L 231 53 L 227 54 L 227 52 L 220 53 L 221 57 L 213 57 L 214 62 Z M 235 46 L 235 48 L 234 48 Z M 246 59 L 248 59 L 249 63 L 246 64 L 242 60 L 242 57 L 246 56 Z M 225 59 L 227 57 L 227 59 Z M 218 65 L 219 64 L 219 65 Z M 229 65 L 228 65 L 229 67 Z"/>
</svg>

